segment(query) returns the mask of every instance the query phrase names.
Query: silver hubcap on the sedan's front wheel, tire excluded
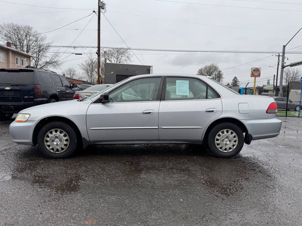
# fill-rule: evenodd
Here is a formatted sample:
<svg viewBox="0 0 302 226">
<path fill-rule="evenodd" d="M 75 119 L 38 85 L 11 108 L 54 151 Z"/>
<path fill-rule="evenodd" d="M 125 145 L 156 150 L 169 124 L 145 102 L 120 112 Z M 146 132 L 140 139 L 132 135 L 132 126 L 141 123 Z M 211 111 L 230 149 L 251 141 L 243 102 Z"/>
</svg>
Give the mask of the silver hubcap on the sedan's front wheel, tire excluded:
<svg viewBox="0 0 302 226">
<path fill-rule="evenodd" d="M 46 148 L 53 153 L 62 153 L 69 146 L 69 136 L 61 129 L 49 130 L 44 137 Z"/>
</svg>

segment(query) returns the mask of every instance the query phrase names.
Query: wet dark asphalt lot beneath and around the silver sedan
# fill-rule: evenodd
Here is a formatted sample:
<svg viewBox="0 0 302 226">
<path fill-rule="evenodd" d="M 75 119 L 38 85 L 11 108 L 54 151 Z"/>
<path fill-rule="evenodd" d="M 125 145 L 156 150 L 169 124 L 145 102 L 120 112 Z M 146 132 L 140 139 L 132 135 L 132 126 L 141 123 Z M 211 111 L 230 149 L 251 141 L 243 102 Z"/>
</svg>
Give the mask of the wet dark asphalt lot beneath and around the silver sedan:
<svg viewBox="0 0 302 226">
<path fill-rule="evenodd" d="M 0 122 L 0 225 L 301 225 L 302 118 L 231 159 L 194 145 L 47 159 Z"/>
</svg>

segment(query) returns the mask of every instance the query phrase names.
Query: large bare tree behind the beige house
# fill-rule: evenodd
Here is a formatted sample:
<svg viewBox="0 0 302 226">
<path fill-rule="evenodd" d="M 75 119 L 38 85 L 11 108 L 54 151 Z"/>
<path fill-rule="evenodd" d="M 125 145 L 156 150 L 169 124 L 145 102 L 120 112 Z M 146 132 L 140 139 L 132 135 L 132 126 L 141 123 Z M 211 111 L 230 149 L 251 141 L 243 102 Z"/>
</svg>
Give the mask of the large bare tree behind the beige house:
<svg viewBox="0 0 302 226">
<path fill-rule="evenodd" d="M 40 34 L 29 25 L 3 23 L 0 24 L 0 40 L 11 42 L 13 48 L 34 55 L 31 65 L 39 68 L 59 68 L 59 54 L 49 54 L 53 42 L 47 42 L 47 36 Z"/>
</svg>

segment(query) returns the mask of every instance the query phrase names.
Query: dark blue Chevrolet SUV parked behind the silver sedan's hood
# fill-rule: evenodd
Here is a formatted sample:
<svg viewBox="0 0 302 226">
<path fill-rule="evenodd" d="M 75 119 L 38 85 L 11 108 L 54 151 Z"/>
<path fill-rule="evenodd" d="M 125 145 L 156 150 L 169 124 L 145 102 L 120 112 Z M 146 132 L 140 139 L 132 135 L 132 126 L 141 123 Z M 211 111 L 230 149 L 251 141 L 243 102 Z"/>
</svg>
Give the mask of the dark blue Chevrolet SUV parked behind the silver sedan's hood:
<svg viewBox="0 0 302 226">
<path fill-rule="evenodd" d="M 72 100 L 77 87 L 53 71 L 0 68 L 0 119 L 32 106 Z"/>
</svg>

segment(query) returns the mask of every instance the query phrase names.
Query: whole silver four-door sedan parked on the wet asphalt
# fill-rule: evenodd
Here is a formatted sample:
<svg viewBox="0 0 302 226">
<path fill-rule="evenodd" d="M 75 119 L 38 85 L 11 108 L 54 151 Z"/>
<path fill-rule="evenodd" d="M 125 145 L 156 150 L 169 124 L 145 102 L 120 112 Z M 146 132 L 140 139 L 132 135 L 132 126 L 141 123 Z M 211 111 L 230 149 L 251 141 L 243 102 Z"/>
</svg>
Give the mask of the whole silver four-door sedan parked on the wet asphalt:
<svg viewBox="0 0 302 226">
<path fill-rule="evenodd" d="M 168 84 L 177 86 L 175 96 Z M 140 99 L 124 99 L 129 89 Z M 27 108 L 9 130 L 14 142 L 38 144 L 49 158 L 66 158 L 89 145 L 203 143 L 229 158 L 244 143 L 278 136 L 277 110 L 271 97 L 240 95 L 205 76 L 149 74 L 86 99 Z"/>
</svg>

